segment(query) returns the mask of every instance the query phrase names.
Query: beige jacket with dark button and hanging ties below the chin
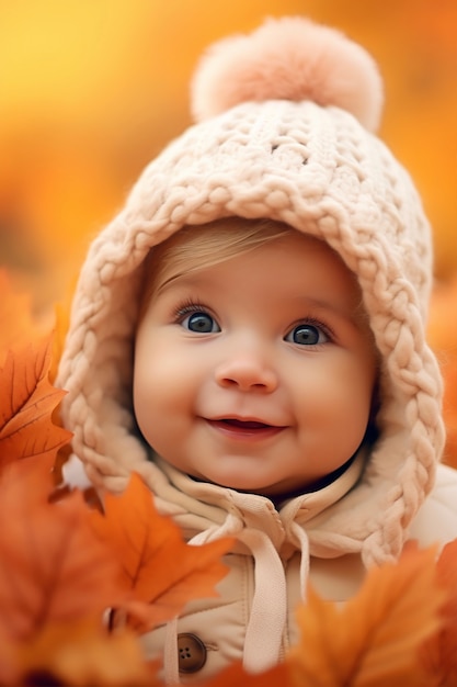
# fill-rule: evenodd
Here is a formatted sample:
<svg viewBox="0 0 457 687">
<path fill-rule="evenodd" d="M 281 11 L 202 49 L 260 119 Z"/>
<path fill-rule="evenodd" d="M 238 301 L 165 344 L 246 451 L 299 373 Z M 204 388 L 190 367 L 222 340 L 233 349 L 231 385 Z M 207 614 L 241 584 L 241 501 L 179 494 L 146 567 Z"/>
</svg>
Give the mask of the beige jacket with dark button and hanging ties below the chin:
<svg viewBox="0 0 457 687">
<path fill-rule="evenodd" d="M 265 671 L 298 640 L 295 608 L 306 598 L 308 582 L 332 601 L 356 593 L 365 575 L 361 543 L 336 534 L 332 542 L 322 523 L 329 507 L 344 503 L 363 462 L 358 455 L 335 482 L 276 510 L 265 497 L 195 482 L 158 461 L 159 509 L 173 517 L 185 539 L 191 544 L 224 536 L 237 540 L 225 559 L 229 573 L 217 587 L 220 596 L 193 601 L 179 620 L 142 640 L 148 657 L 163 654 L 167 682 L 206 679 L 235 661 L 249 672 Z M 457 472 L 439 466 L 411 539 L 426 547 L 457 537 L 456 492 Z"/>
</svg>

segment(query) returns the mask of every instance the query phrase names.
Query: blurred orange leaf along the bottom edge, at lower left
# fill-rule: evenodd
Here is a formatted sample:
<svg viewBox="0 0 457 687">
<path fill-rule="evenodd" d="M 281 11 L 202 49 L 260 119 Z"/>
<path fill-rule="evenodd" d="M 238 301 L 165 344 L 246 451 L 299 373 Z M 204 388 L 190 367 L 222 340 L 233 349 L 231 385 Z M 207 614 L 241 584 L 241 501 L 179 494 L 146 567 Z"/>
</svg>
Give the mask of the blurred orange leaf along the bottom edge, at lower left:
<svg viewBox="0 0 457 687">
<path fill-rule="evenodd" d="M 81 687 L 162 684 L 158 666 L 146 663 L 132 631 L 108 633 L 100 623 L 87 619 L 46 624 L 33 639 L 14 646 L 10 663 L 7 675 L 14 676 L 14 684 Z"/>
</svg>

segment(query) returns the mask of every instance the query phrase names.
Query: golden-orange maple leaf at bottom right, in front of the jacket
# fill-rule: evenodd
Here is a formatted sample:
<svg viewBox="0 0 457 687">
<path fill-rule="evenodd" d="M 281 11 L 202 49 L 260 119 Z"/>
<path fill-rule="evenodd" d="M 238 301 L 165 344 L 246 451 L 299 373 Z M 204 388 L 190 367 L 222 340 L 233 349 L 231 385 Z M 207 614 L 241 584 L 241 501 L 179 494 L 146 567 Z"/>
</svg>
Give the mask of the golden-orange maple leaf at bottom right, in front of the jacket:
<svg viewBox="0 0 457 687">
<path fill-rule="evenodd" d="M 287 658 L 294 687 L 429 687 L 419 647 L 439 627 L 444 594 L 435 549 L 404 552 L 397 565 L 367 573 L 339 607 L 312 589 L 297 619 L 301 641 Z"/>
</svg>

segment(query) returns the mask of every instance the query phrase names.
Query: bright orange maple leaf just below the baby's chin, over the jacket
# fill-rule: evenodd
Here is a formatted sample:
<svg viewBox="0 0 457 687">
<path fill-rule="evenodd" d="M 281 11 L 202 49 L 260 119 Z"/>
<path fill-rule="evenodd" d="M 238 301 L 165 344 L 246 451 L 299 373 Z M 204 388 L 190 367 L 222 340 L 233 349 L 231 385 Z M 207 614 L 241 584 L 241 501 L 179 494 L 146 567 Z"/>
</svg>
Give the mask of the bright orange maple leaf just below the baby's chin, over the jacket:
<svg viewBox="0 0 457 687">
<path fill-rule="evenodd" d="M 191 599 L 217 596 L 215 585 L 228 572 L 221 556 L 232 540 L 186 544 L 137 474 L 122 496 L 105 495 L 104 515 L 93 511 L 92 522 L 122 563 L 123 586 L 133 593 L 125 609 L 142 630 L 170 620 Z"/>
</svg>

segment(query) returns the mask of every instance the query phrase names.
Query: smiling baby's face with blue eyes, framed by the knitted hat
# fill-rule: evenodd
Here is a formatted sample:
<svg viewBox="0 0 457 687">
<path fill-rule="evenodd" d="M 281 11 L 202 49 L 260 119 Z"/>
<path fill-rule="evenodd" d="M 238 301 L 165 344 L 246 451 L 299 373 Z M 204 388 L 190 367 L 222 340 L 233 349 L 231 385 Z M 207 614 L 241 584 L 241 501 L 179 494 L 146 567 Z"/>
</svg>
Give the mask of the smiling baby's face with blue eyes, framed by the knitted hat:
<svg viewBox="0 0 457 687">
<path fill-rule="evenodd" d="M 162 275 L 137 333 L 134 405 L 145 439 L 175 468 L 282 497 L 356 451 L 375 378 L 352 273 L 293 232 Z"/>
</svg>

